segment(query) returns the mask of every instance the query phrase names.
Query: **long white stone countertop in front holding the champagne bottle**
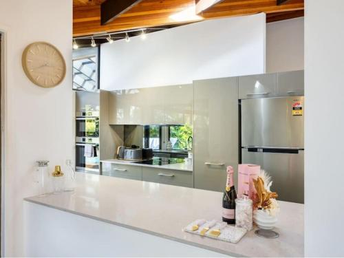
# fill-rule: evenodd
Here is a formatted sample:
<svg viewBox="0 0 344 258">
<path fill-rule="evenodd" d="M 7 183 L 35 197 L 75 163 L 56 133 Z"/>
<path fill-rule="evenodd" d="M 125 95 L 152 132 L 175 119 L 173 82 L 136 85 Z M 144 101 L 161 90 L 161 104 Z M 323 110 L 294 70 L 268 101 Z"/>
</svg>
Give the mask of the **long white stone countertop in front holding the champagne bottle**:
<svg viewBox="0 0 344 258">
<path fill-rule="evenodd" d="M 195 219 L 221 221 L 219 192 L 76 173 L 74 192 L 25 200 L 226 255 L 303 257 L 303 204 L 279 202 L 279 238 L 265 239 L 251 230 L 239 243 L 230 244 L 182 231 Z"/>
</svg>

